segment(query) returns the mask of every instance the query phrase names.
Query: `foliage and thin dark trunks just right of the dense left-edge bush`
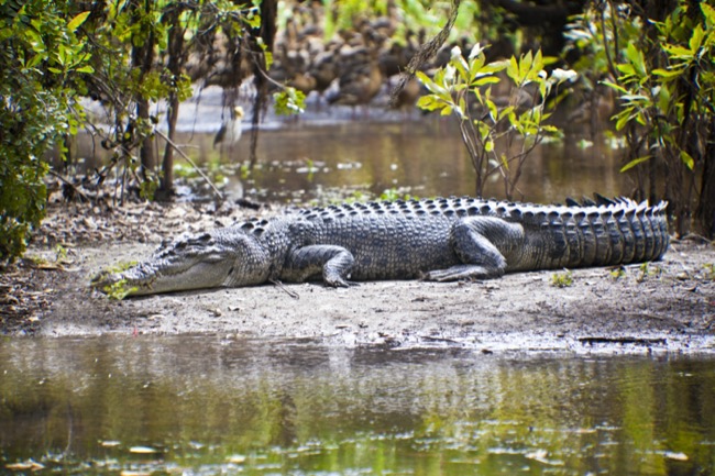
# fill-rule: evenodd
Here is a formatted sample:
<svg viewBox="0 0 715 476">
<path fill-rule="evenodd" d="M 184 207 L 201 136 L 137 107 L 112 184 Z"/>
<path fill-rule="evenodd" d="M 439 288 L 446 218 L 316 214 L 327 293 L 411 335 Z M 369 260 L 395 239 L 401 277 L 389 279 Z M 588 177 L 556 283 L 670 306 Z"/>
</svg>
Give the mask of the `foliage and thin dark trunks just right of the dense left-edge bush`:
<svg viewBox="0 0 715 476">
<path fill-rule="evenodd" d="M 250 36 L 246 31 L 261 24 L 257 8 L 228 0 L 130 0 L 125 4 L 100 5 L 96 13 L 85 33 L 102 54 L 95 55 L 96 71 L 89 93 L 101 100 L 111 119 L 109 126 L 91 129 L 100 136 L 102 146 L 113 152 L 113 159 L 98 171 L 97 179 L 103 181 L 114 167 L 121 167 L 123 180 L 135 178 L 141 184 L 142 197 L 153 198 L 160 187 L 168 193 L 173 186 L 174 145 L 167 143 L 160 164 L 152 140 L 161 118 L 150 110 L 150 104 L 169 104 L 167 125 L 172 141 L 179 104 L 193 95 L 191 81 L 208 73 L 189 77 L 189 56 L 215 54 L 210 48 L 219 42 L 217 38 L 229 43 L 227 55 L 245 49 L 244 38 Z M 229 65 L 237 63 L 233 57 L 223 60 Z M 227 73 L 227 77 L 232 80 L 223 85 L 228 89 L 238 87 L 243 79 L 237 71 Z"/>
</svg>

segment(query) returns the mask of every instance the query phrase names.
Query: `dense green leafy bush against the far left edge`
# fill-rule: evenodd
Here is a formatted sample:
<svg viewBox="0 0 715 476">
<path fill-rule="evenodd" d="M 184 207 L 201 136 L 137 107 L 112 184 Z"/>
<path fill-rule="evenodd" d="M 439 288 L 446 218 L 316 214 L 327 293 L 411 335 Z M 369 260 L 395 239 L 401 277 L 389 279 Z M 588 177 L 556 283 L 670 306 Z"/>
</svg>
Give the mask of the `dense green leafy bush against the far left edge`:
<svg viewBox="0 0 715 476">
<path fill-rule="evenodd" d="M 87 16 L 65 1 L 0 3 L 0 264 L 44 217 L 44 153 L 82 119 L 76 96 L 94 69 L 76 32 Z"/>
</svg>

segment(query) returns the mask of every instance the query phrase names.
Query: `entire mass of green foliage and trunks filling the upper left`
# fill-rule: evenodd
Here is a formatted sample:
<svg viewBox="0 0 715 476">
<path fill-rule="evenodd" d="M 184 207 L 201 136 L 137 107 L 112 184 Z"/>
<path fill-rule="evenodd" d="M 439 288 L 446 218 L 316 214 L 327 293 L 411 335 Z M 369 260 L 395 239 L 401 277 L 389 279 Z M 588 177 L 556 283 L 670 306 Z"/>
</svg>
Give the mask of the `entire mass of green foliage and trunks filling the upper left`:
<svg viewBox="0 0 715 476">
<path fill-rule="evenodd" d="M 58 144 L 72 160 L 62 144 L 82 126 L 113 152 L 111 162 L 97 170 L 97 182 L 122 167 L 122 182 L 134 177 L 142 197 L 151 198 L 160 179 L 170 185 L 170 145 L 160 169 L 152 144 L 160 117 L 150 104 L 169 104 L 170 136 L 178 104 L 200 77 L 184 73 L 189 54 L 201 56 L 218 34 L 237 43 L 226 48 L 232 55 L 250 47 L 253 36 L 246 32 L 261 25 L 258 11 L 252 2 L 229 0 L 1 2 L 0 263 L 22 254 L 44 214 L 44 153 Z M 240 64 L 233 59 L 227 63 Z M 233 84 L 228 87 L 243 79 L 229 77 Z M 101 101 L 110 125 L 87 123 L 79 97 Z"/>
</svg>

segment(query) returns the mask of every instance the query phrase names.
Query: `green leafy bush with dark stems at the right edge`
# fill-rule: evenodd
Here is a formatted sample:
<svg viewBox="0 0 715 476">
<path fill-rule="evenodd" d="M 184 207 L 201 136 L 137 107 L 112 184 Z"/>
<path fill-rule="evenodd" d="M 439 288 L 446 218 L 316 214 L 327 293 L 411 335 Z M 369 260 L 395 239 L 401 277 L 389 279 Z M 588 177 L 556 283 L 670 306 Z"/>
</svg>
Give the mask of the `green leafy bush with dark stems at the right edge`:
<svg viewBox="0 0 715 476">
<path fill-rule="evenodd" d="M 696 209 L 698 228 L 713 235 L 715 9 L 706 2 L 669 3 L 672 8 L 652 14 L 594 3 L 570 36 L 574 47 L 596 53 L 595 60 L 587 58 L 586 76 L 606 77 L 602 84 L 619 99 L 613 120 L 628 147 L 620 170 L 634 173 L 637 198 L 664 196 L 680 234 Z"/>
</svg>

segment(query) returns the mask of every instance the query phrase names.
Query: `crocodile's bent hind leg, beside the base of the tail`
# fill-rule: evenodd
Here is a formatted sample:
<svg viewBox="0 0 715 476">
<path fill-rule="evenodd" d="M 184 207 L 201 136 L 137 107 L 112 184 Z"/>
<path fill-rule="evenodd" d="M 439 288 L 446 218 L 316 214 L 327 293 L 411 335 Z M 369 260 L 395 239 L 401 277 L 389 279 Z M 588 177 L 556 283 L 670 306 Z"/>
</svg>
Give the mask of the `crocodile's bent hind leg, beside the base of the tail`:
<svg viewBox="0 0 715 476">
<path fill-rule="evenodd" d="M 427 272 L 424 279 L 454 281 L 459 279 L 498 278 L 506 270 L 506 257 L 502 250 L 518 246 L 524 230 L 494 217 L 470 217 L 454 223 L 450 245 L 462 264 L 447 269 Z"/>
</svg>

